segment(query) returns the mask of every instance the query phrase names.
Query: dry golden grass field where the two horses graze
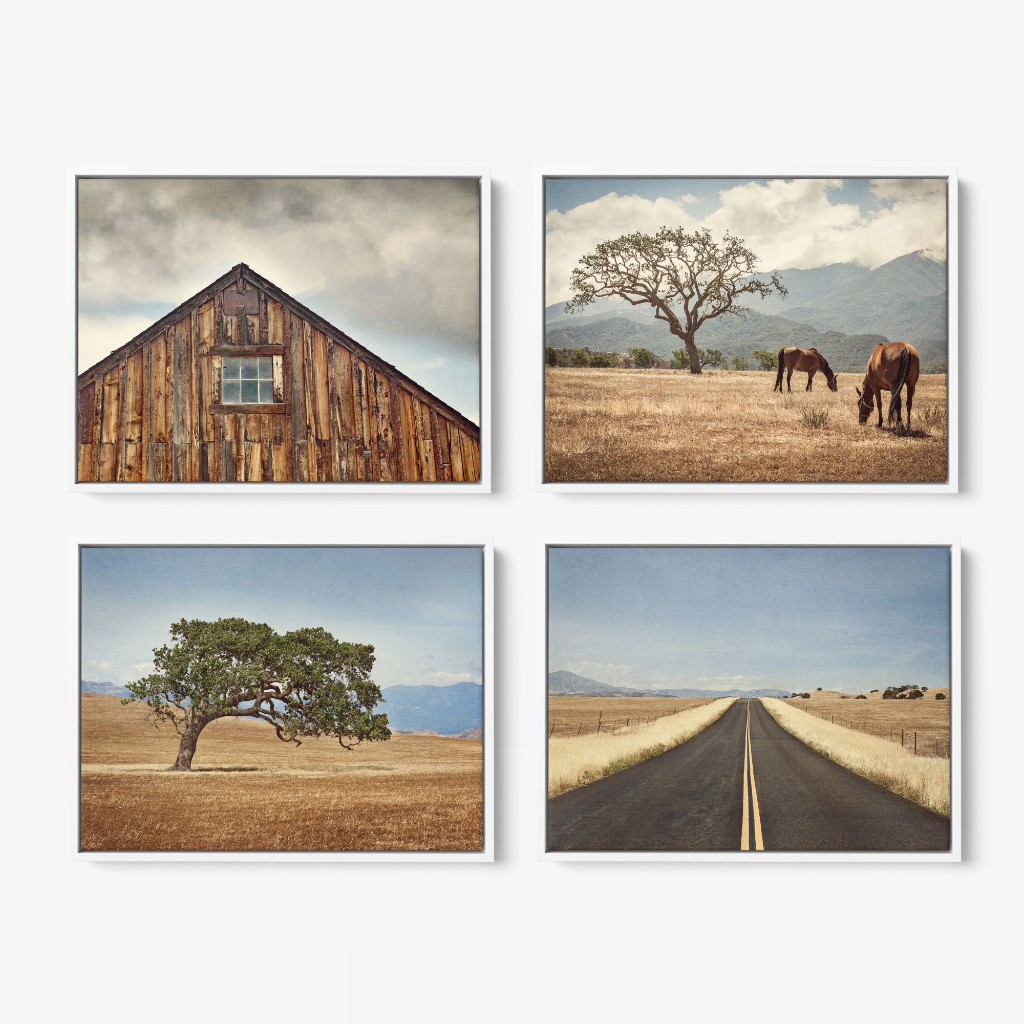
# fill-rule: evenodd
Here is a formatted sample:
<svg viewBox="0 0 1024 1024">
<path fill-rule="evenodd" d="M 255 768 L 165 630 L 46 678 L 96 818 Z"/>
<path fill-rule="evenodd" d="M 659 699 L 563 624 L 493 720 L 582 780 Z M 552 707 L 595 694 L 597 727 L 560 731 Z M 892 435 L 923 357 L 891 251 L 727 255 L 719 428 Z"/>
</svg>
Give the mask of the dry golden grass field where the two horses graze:
<svg viewBox="0 0 1024 1024">
<path fill-rule="evenodd" d="M 863 374 L 772 392 L 774 373 L 547 369 L 545 476 L 591 481 L 943 481 L 946 378 L 922 376 L 913 432 L 857 423 Z M 888 409 L 888 392 L 885 394 Z M 820 427 L 802 414 L 827 411 Z M 904 394 L 904 422 L 906 402 Z M 883 419 L 885 423 L 885 418 Z"/>
</svg>

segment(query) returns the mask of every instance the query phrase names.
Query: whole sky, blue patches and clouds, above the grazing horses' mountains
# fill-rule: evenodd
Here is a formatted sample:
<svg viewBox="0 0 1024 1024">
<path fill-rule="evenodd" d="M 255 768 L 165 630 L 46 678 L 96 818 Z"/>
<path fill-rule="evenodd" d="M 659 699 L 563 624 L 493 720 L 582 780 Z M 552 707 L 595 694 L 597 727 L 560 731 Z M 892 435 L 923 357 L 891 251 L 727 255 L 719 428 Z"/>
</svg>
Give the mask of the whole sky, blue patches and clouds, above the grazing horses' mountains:
<svg viewBox="0 0 1024 1024">
<path fill-rule="evenodd" d="M 549 178 L 546 305 L 599 242 L 659 227 L 710 227 L 746 241 L 759 270 L 946 255 L 944 179 Z"/>
</svg>

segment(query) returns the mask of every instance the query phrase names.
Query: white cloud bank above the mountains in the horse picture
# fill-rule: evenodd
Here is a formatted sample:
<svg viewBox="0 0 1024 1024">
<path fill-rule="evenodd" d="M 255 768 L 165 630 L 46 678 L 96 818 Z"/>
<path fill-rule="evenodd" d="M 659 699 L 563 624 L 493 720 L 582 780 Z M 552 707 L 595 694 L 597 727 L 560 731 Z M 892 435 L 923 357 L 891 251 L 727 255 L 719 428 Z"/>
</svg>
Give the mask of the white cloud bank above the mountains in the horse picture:
<svg viewBox="0 0 1024 1024">
<path fill-rule="evenodd" d="M 568 299 L 572 268 L 598 242 L 662 226 L 707 226 L 717 236 L 729 230 L 757 253 L 762 270 L 828 263 L 874 268 L 919 250 L 945 259 L 945 181 L 873 180 L 871 191 L 883 204 L 874 211 L 834 199 L 842 184 L 825 178 L 744 182 L 721 190 L 721 206 L 699 221 L 684 209 L 691 197 L 675 202 L 609 193 L 565 213 L 552 211 L 546 219 L 546 301 Z"/>
</svg>

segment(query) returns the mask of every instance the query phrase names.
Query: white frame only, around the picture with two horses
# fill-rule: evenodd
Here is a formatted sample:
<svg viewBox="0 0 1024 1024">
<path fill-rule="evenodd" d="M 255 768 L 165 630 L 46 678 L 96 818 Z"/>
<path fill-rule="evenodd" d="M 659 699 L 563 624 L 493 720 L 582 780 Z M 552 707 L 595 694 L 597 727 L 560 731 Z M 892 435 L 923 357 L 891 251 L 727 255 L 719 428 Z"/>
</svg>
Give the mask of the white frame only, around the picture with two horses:
<svg viewBox="0 0 1024 1024">
<path fill-rule="evenodd" d="M 536 168 L 537 180 L 535 194 L 535 230 L 538 231 L 536 252 L 536 281 L 537 281 L 537 306 L 534 315 L 540 318 L 541 346 L 537 353 L 538 365 L 540 367 L 538 386 L 538 403 L 536 410 L 536 420 L 538 433 L 535 451 L 538 453 L 535 474 L 535 490 L 547 492 L 551 494 L 595 494 L 595 493 L 627 493 L 627 494 L 818 494 L 818 493 L 845 493 L 845 494 L 956 494 L 959 489 L 958 473 L 958 452 L 959 452 L 959 418 L 958 418 L 958 392 L 959 392 L 959 367 L 958 367 L 958 269 L 957 269 L 957 178 L 955 169 L 931 169 L 931 170 L 856 170 L 845 171 L 822 171 L 818 169 L 790 170 L 785 172 L 774 171 L 772 173 L 745 173 L 736 170 L 706 172 L 665 170 L 637 170 L 630 169 L 599 169 L 594 168 Z M 548 178 L 679 178 L 706 179 L 706 178 L 945 178 L 947 180 L 946 190 L 946 242 L 947 242 L 947 282 L 948 282 L 948 309 L 947 323 L 949 334 L 948 348 L 948 372 L 946 375 L 947 389 L 947 431 L 946 431 L 946 479 L 938 482 L 685 482 L 667 481 L 656 483 L 631 483 L 627 481 L 614 482 L 556 482 L 546 479 L 545 467 L 545 386 L 546 375 L 543 358 L 544 338 L 545 338 L 545 183 Z"/>
</svg>

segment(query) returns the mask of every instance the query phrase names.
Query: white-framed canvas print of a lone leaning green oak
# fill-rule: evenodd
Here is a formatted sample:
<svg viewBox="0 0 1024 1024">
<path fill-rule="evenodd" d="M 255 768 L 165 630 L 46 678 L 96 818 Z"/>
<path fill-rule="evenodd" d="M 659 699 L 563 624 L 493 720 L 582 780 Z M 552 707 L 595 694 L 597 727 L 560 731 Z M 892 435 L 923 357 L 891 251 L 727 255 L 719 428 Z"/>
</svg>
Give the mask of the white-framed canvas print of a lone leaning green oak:
<svg viewBox="0 0 1024 1024">
<path fill-rule="evenodd" d="M 72 557 L 76 858 L 494 859 L 489 542 Z"/>
</svg>

